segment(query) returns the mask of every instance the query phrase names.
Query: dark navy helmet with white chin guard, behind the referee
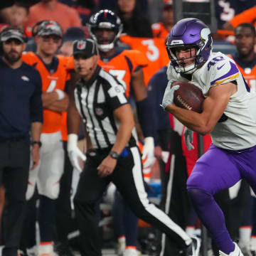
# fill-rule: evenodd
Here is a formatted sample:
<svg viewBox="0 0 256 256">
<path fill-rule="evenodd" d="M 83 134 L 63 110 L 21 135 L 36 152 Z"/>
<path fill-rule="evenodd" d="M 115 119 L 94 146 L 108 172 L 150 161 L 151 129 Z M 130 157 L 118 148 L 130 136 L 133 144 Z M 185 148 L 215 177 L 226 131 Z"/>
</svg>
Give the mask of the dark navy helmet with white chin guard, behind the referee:
<svg viewBox="0 0 256 256">
<path fill-rule="evenodd" d="M 122 33 L 122 23 L 120 18 L 110 10 L 100 10 L 94 14 L 91 18 L 87 27 L 90 32 L 90 36 L 97 43 L 99 50 L 102 52 L 107 52 L 114 48 L 115 43 L 117 42 L 119 36 Z M 113 38 L 110 38 L 110 42 L 105 44 L 101 42 L 100 38 L 97 38 L 96 31 L 97 29 L 110 29 L 114 31 L 115 35 Z"/>
</svg>

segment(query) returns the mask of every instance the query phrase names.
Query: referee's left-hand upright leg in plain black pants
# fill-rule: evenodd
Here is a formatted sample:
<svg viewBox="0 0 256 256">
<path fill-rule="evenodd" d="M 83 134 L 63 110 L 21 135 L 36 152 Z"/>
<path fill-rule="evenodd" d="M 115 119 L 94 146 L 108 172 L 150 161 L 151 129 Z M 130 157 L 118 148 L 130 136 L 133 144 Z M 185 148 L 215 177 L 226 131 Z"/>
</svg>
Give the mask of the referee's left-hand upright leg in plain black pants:
<svg viewBox="0 0 256 256">
<path fill-rule="evenodd" d="M 101 256 L 100 233 L 96 216 L 97 203 L 110 181 L 97 174 L 97 167 L 107 156 L 98 151 L 87 151 L 87 159 L 80 175 L 78 188 L 75 193 L 75 216 L 80 230 L 80 252 L 82 256 Z"/>
</svg>

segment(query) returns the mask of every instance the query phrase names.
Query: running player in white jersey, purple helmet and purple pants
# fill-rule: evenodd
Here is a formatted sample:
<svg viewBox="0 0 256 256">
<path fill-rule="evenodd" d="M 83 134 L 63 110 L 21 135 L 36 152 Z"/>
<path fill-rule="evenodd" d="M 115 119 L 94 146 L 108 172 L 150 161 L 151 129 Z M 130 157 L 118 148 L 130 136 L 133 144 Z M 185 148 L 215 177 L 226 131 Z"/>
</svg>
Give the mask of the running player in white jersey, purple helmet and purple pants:
<svg viewBox="0 0 256 256">
<path fill-rule="evenodd" d="M 225 227 L 223 212 L 213 195 L 241 178 L 256 192 L 256 94 L 242 77 L 234 60 L 212 53 L 210 29 L 196 18 L 178 21 L 166 41 L 171 63 L 162 107 L 187 128 L 191 148 L 193 131 L 209 134 L 213 144 L 196 162 L 187 181 L 193 206 L 220 248 L 220 255 L 242 255 Z M 191 81 L 206 99 L 201 114 L 174 105 L 174 80 Z"/>
</svg>

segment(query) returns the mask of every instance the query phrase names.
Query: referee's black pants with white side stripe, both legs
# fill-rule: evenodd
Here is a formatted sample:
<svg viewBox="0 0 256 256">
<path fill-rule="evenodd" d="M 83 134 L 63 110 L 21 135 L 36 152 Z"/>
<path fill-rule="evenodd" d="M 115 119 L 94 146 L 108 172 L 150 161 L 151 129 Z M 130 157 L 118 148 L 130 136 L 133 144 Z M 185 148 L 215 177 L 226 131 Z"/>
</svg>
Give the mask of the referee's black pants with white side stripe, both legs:
<svg viewBox="0 0 256 256">
<path fill-rule="evenodd" d="M 87 152 L 84 171 L 80 176 L 78 190 L 75 195 L 75 214 L 80 228 L 81 255 L 101 255 L 100 235 L 95 220 L 95 203 L 110 181 L 117 186 L 124 200 L 134 213 L 147 223 L 159 228 L 184 248 L 191 239 L 164 212 L 149 203 L 144 188 L 142 161 L 137 146 L 127 149 L 129 154 L 117 160 L 117 166 L 110 176 L 101 178 L 97 174 L 97 166 L 109 154 L 110 149 Z"/>
</svg>

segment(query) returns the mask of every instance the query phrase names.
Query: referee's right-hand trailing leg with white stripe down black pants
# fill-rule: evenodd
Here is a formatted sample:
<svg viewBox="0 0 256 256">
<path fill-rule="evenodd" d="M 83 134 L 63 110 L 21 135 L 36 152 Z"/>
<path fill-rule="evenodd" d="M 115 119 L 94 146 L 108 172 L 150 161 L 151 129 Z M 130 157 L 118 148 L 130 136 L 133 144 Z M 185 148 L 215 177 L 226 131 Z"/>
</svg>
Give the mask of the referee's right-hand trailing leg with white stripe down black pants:
<svg viewBox="0 0 256 256">
<path fill-rule="evenodd" d="M 112 181 L 139 218 L 166 233 L 180 248 L 186 248 L 191 244 L 191 238 L 163 211 L 149 203 L 144 188 L 139 149 L 132 147 L 127 150 L 129 155 L 117 161 L 117 168 L 112 174 Z"/>
</svg>

